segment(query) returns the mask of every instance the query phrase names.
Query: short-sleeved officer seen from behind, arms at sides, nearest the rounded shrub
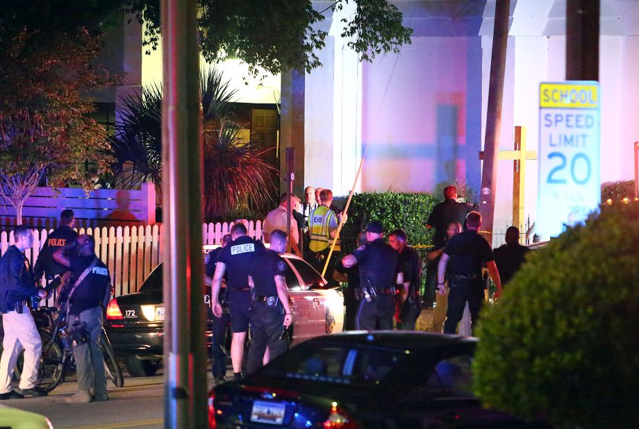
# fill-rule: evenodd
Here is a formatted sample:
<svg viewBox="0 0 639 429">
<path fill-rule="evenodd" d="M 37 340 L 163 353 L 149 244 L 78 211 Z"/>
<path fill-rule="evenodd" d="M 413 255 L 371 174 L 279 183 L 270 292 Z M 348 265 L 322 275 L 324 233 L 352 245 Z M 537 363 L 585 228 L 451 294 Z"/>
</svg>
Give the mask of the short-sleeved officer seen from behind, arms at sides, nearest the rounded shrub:
<svg viewBox="0 0 639 429">
<path fill-rule="evenodd" d="M 471 323 L 476 323 L 483 303 L 482 264 L 486 264 L 488 273 L 495 282 L 497 292 L 495 298 L 501 296 L 501 281 L 495 264 L 490 244 L 479 235 L 481 214 L 470 212 L 466 217 L 466 228 L 463 233 L 450 239 L 438 267 L 438 294 L 445 294 L 445 274 L 448 270 L 450 292 L 448 294 L 447 319 L 444 333 L 454 334 L 457 323 L 461 320 L 464 307 L 468 303 Z"/>
</svg>

